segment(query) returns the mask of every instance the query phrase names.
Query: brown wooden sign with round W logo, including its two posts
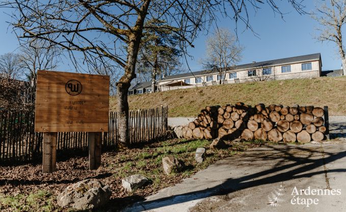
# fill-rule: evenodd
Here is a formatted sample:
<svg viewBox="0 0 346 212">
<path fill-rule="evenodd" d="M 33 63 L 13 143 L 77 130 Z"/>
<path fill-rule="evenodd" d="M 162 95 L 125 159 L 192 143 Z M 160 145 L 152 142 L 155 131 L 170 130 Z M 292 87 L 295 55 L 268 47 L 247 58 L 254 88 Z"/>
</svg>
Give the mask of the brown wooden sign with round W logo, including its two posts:
<svg viewBox="0 0 346 212">
<path fill-rule="evenodd" d="M 108 131 L 109 76 L 38 71 L 35 131 L 43 132 L 42 171 L 56 170 L 58 132 L 88 132 L 89 168 L 101 164 Z"/>
</svg>

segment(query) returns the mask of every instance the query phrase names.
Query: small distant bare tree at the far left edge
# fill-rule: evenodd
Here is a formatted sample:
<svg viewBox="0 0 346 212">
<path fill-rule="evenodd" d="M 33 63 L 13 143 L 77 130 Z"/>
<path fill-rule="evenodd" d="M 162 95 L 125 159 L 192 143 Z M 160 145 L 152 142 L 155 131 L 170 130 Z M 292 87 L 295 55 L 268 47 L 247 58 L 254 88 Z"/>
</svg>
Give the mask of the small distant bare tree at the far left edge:
<svg viewBox="0 0 346 212">
<path fill-rule="evenodd" d="M 0 56 L 0 77 L 21 80 L 24 77 L 20 56 L 6 53 Z"/>
</svg>

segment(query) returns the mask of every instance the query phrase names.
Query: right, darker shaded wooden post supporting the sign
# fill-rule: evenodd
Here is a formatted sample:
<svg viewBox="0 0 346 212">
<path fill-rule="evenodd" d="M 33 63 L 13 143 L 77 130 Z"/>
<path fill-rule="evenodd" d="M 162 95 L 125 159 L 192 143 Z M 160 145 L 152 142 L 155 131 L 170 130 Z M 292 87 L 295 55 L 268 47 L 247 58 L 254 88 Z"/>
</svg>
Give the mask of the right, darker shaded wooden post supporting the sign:
<svg viewBox="0 0 346 212">
<path fill-rule="evenodd" d="M 97 169 L 101 165 L 102 133 L 89 133 L 89 170 Z"/>
</svg>

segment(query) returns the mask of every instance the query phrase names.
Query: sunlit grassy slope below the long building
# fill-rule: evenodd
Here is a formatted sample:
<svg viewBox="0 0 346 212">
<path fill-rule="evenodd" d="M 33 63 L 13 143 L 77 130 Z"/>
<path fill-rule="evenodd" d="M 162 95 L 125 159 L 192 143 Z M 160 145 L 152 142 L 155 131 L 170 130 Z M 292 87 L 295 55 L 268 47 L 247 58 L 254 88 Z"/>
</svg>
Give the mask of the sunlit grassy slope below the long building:
<svg viewBox="0 0 346 212">
<path fill-rule="evenodd" d="M 257 103 L 329 106 L 330 115 L 346 115 L 346 76 L 251 82 L 129 96 L 130 110 L 168 105 L 170 117 L 195 117 L 206 105 Z M 111 97 L 111 110 L 116 109 Z"/>
</svg>

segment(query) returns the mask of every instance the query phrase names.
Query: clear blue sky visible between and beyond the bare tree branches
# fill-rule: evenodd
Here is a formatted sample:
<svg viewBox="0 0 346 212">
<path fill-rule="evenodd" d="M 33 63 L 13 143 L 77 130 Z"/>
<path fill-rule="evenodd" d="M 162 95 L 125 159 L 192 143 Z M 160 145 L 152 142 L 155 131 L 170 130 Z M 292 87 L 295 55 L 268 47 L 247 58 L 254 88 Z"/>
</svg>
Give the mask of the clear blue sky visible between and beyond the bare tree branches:
<svg viewBox="0 0 346 212">
<path fill-rule="evenodd" d="M 286 1 L 284 1 L 286 2 Z M 313 9 L 314 1 L 304 1 L 306 11 Z M 281 3 L 281 10 L 287 14 L 282 19 L 275 15 L 271 8 L 262 6 L 257 13 L 251 9 L 250 23 L 258 37 L 250 30 L 244 30 L 244 24 L 239 22 L 238 38 L 239 43 L 245 47 L 243 59 L 238 64 L 251 63 L 253 61 L 265 61 L 299 55 L 314 54 L 320 52 L 322 55 L 323 70 L 339 69 L 341 61 L 337 56 L 337 49 L 334 43 L 321 43 L 313 39 L 314 29 L 317 23 L 309 15 L 299 15 L 287 3 Z M 0 10 L 0 40 L 2 48 L 0 54 L 15 51 L 18 47 L 16 36 L 11 32 L 6 21 L 10 21 L 8 15 Z M 220 19 L 218 25 L 223 28 L 234 30 L 235 24 L 230 19 Z M 212 31 L 212 30 L 211 30 Z M 189 66 L 192 71 L 202 69 L 199 60 L 205 55 L 206 32 L 194 42 L 195 48 L 190 48 L 189 52 L 194 59 L 189 59 Z M 344 35 L 345 36 L 345 35 Z M 186 68 L 187 66 L 184 66 Z M 59 68 L 61 71 L 73 71 L 66 61 Z"/>
</svg>

